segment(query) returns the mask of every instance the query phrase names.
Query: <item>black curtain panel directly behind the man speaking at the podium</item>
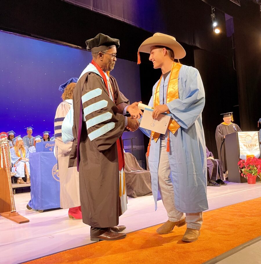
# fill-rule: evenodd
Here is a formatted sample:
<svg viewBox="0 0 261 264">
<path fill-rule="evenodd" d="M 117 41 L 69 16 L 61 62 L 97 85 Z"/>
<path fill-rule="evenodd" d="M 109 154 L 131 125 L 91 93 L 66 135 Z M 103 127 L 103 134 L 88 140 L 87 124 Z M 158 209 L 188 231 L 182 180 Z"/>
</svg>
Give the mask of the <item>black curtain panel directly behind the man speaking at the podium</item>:
<svg viewBox="0 0 261 264">
<path fill-rule="evenodd" d="M 234 122 L 239 124 L 237 94 L 235 94 L 235 80 L 228 74 L 228 57 L 207 52 L 194 50 L 195 68 L 200 72 L 206 95 L 206 103 L 202 113 L 202 121 L 205 133 L 206 146 L 218 158 L 215 141 L 217 125 L 223 122 L 224 112 L 233 111 Z M 240 124 L 239 124 L 240 125 Z"/>
</svg>

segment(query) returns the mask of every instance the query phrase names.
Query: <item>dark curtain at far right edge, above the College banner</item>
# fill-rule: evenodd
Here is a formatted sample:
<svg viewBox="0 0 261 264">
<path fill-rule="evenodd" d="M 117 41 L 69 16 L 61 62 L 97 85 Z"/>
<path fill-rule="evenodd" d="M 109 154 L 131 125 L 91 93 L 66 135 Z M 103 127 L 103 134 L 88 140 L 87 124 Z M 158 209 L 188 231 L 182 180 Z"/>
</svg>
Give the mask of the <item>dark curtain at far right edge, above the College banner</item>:
<svg viewBox="0 0 261 264">
<path fill-rule="evenodd" d="M 234 19 L 240 123 L 243 131 L 258 131 L 261 118 L 261 40 L 259 29 Z"/>
</svg>

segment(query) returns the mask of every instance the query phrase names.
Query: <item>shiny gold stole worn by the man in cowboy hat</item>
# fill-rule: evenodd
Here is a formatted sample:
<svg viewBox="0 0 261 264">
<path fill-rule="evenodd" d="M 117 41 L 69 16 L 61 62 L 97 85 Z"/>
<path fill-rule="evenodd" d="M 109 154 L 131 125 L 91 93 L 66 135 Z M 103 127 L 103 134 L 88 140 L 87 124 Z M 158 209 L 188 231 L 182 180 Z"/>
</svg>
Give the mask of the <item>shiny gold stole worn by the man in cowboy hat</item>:
<svg viewBox="0 0 261 264">
<path fill-rule="evenodd" d="M 180 68 L 182 64 L 174 62 L 171 68 L 171 73 L 168 81 L 168 88 L 167 88 L 167 96 L 166 96 L 166 103 L 169 103 L 175 99 L 179 98 L 179 89 L 178 89 L 178 77 L 180 73 Z M 160 77 L 160 81 L 155 89 L 154 97 L 153 97 L 153 108 L 155 108 L 157 105 L 160 105 L 160 83 L 162 80 L 162 75 Z M 169 111 L 167 112 L 169 113 Z M 168 142 L 167 142 L 167 152 L 169 152 L 169 131 L 171 131 L 173 134 L 180 128 L 180 125 L 174 120 L 171 119 L 171 122 L 168 126 Z M 151 137 L 153 137 L 154 141 L 157 142 L 157 140 L 160 137 L 160 133 L 151 131 Z M 151 138 L 150 142 L 148 144 L 148 151 L 147 156 L 150 152 L 150 146 L 151 146 Z"/>
</svg>

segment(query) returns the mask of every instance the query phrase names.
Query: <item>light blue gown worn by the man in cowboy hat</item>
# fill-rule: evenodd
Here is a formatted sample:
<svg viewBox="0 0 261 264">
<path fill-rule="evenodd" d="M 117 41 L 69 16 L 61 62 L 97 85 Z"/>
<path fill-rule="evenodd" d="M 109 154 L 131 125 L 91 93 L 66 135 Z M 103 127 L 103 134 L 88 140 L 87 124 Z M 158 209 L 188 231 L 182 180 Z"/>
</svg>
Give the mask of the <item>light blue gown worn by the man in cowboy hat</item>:
<svg viewBox="0 0 261 264">
<path fill-rule="evenodd" d="M 163 104 L 163 91 L 166 103 L 166 91 L 170 74 L 160 83 L 160 104 Z M 159 81 L 153 86 L 155 88 Z M 200 74 L 197 69 L 182 65 L 178 77 L 179 99 L 175 99 L 167 106 L 171 116 L 180 125 L 175 134 L 170 135 L 170 152 L 168 152 L 171 167 L 171 176 L 174 186 L 176 209 L 184 213 L 202 212 L 208 209 L 206 197 L 207 167 L 206 145 L 202 126 L 202 110 L 205 105 L 205 92 Z M 149 102 L 153 107 L 153 96 Z M 150 135 L 149 130 L 141 130 Z M 166 132 L 167 144 L 167 132 Z M 151 185 L 157 209 L 158 192 L 158 165 L 160 156 L 160 140 L 157 143 L 151 139 L 149 153 L 149 167 L 151 172 Z"/>
</svg>

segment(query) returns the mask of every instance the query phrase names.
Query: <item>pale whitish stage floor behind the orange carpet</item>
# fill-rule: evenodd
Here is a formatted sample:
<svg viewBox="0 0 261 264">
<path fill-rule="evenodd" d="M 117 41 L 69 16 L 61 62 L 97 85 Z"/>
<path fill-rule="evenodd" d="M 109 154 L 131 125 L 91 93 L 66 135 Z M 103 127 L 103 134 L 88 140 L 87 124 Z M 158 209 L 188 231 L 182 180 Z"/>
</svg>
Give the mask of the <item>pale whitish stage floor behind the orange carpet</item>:
<svg viewBox="0 0 261 264">
<path fill-rule="evenodd" d="M 229 183 L 221 187 L 208 186 L 207 191 L 209 210 L 214 210 L 260 197 L 261 184 Z M 90 227 L 81 220 L 69 219 L 68 209 L 43 213 L 27 210 L 30 193 L 16 194 L 14 200 L 17 212 L 30 222 L 19 225 L 0 216 L 1 264 L 21 263 L 92 243 Z M 128 210 L 120 217 L 119 225 L 126 225 L 125 231 L 129 233 L 166 220 L 162 202 L 158 201 L 158 209 L 155 212 L 153 196 L 143 196 L 128 198 Z"/>
</svg>

